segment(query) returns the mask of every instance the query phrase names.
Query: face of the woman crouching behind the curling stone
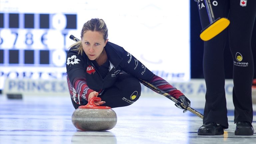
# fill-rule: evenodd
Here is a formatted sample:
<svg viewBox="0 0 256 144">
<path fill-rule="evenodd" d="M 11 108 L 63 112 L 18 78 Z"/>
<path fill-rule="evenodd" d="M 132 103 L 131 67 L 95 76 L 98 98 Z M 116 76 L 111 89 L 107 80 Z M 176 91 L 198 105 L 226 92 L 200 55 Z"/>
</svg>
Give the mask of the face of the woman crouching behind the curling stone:
<svg viewBox="0 0 256 144">
<path fill-rule="evenodd" d="M 104 40 L 101 32 L 90 30 L 85 32 L 81 39 L 83 50 L 90 60 L 97 60 L 108 41 Z"/>
</svg>

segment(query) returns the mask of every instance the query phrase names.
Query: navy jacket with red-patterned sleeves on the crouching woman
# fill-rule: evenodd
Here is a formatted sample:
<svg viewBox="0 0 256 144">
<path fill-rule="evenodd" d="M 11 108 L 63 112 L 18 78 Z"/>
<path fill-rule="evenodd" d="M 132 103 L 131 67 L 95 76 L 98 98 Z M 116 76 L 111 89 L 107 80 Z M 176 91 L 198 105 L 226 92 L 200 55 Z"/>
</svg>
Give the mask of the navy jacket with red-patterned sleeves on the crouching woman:
<svg viewBox="0 0 256 144">
<path fill-rule="evenodd" d="M 81 104 L 81 100 L 87 100 L 91 91 L 100 93 L 102 90 L 113 86 L 122 71 L 145 80 L 176 98 L 183 95 L 167 81 L 148 70 L 132 54 L 114 43 L 107 42 L 105 46 L 110 62 L 109 72 L 105 78 L 101 77 L 84 51 L 81 55 L 74 49 L 75 47 L 72 47 L 68 51 L 66 68 L 70 96 L 78 104 Z"/>
</svg>

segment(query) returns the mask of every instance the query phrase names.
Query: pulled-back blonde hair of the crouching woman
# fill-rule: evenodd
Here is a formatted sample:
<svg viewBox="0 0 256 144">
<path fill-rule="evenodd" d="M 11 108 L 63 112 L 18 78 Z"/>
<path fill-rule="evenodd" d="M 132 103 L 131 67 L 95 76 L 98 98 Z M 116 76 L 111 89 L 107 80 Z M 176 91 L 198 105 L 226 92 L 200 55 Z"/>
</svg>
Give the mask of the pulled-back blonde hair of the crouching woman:
<svg viewBox="0 0 256 144">
<path fill-rule="evenodd" d="M 81 30 L 81 37 L 83 37 L 83 34 L 85 32 L 87 32 L 88 30 L 90 31 L 97 31 L 97 32 L 101 32 L 103 34 L 103 38 L 106 41 L 108 38 L 108 28 L 106 23 L 103 21 L 103 19 L 99 19 L 99 18 L 94 18 L 91 19 L 89 21 L 87 21 L 86 23 L 84 23 L 83 28 Z M 78 41 L 74 44 L 72 44 L 69 48 L 76 46 L 77 48 L 75 48 L 74 50 L 78 51 L 78 54 L 83 53 L 83 46 L 82 46 L 82 41 Z"/>
</svg>

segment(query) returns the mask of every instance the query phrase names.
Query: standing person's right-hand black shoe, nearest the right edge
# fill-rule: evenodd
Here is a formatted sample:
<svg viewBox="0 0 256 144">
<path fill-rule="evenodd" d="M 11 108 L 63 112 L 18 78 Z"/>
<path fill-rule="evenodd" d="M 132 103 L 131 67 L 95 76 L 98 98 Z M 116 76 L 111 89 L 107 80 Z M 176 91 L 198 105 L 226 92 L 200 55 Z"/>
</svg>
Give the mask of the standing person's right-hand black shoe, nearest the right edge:
<svg viewBox="0 0 256 144">
<path fill-rule="evenodd" d="M 235 135 L 253 135 L 253 131 L 249 122 L 239 121 L 236 123 Z"/>
</svg>

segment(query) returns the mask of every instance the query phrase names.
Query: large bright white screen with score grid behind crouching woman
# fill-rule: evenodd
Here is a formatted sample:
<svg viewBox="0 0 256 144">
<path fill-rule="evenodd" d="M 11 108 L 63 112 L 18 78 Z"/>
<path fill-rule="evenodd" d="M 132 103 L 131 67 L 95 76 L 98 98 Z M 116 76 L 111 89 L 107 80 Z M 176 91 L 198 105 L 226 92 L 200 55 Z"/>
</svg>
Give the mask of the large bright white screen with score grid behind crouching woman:
<svg viewBox="0 0 256 144">
<path fill-rule="evenodd" d="M 0 0 L 0 90 L 7 78 L 65 80 L 69 36 L 91 18 L 156 75 L 190 80 L 189 0 L 173 2 Z"/>
</svg>

